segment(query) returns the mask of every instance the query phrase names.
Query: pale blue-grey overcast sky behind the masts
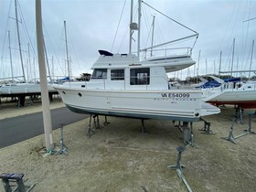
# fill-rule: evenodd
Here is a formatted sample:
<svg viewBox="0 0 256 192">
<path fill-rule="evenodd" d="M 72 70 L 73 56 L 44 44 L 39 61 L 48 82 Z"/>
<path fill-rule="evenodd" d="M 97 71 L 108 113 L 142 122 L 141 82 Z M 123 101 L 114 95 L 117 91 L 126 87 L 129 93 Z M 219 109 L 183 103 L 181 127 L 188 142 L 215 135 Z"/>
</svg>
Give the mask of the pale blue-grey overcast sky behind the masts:
<svg viewBox="0 0 256 192">
<path fill-rule="evenodd" d="M 256 0 L 144 1 L 166 16 L 199 33 L 192 55 L 193 59 L 197 61 L 196 68 L 192 67 L 189 70 L 172 73 L 169 75 L 170 77 L 178 75 L 184 79 L 187 75 L 193 76 L 194 71 L 197 75 L 198 61 L 199 75 L 218 73 L 220 51 L 222 51 L 221 70 L 229 70 L 234 38 L 233 69 L 250 69 L 251 44 L 252 39 L 256 37 L 256 19 L 249 22 L 246 20 L 256 17 Z M 98 49 L 109 50 L 113 53 L 127 53 L 130 4 L 129 0 L 43 0 L 45 42 L 49 65 L 54 64 L 53 68 L 50 67 L 54 74 L 67 74 L 65 72 L 67 69 L 65 69 L 64 20 L 67 22 L 72 75 L 79 76 L 82 72 L 91 72 L 92 63 L 99 57 Z M 136 0 L 134 5 L 137 5 Z M 122 10 L 123 17 L 117 31 Z M 147 15 L 142 19 L 142 22 L 145 21 L 148 24 L 151 24 L 153 16 L 155 16 L 155 41 L 157 38 L 161 39 L 159 42 L 162 42 L 193 34 L 193 32 L 177 26 L 156 11 L 149 11 L 148 7 L 143 9 L 142 14 L 143 16 Z M 1 0 L 0 79 L 11 76 L 8 30 L 10 31 L 13 65 L 15 66 L 14 75 L 22 75 L 18 61 L 16 20 L 14 17 L 14 0 Z M 37 58 L 35 1 L 18 0 L 18 17 L 26 71 L 30 73 L 34 69 L 33 58 Z M 159 33 L 156 33 L 156 29 L 159 29 Z M 146 30 L 142 32 L 144 39 L 149 39 L 147 32 Z M 117 34 L 116 37 L 115 34 Z M 148 46 L 148 42 L 149 40 L 143 40 L 142 47 Z M 193 42 L 188 41 L 187 46 L 193 46 Z M 255 58 L 256 55 L 254 54 L 251 69 L 256 69 Z M 30 67 L 27 67 L 28 63 L 30 63 Z M 37 69 L 37 66 L 35 68 Z"/>
</svg>

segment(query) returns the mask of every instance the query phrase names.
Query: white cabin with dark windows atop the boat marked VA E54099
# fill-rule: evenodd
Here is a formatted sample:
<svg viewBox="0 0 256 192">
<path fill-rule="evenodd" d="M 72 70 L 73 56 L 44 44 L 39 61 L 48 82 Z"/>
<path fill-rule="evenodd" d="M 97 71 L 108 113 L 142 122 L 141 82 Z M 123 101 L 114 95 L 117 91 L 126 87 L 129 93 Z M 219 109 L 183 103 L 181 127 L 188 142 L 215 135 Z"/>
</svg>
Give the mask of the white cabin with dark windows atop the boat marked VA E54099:
<svg viewBox="0 0 256 192">
<path fill-rule="evenodd" d="M 168 90 L 165 67 L 140 62 L 133 54 L 101 52 L 93 64 L 88 89 Z"/>
</svg>

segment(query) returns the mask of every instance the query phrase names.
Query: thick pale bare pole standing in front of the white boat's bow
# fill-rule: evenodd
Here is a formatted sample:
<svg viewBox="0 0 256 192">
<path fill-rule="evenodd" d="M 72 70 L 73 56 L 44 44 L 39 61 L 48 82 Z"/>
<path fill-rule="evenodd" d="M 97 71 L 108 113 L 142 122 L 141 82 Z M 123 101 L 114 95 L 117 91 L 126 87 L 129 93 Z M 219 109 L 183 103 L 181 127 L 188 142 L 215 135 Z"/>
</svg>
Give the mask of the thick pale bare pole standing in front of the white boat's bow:
<svg viewBox="0 0 256 192">
<path fill-rule="evenodd" d="M 46 148 L 48 153 L 53 150 L 52 125 L 48 99 L 47 69 L 44 53 L 44 39 L 42 28 L 41 0 L 36 0 L 36 21 L 37 21 L 37 55 L 39 62 L 39 76 L 41 86 L 43 120 L 45 130 Z"/>
</svg>

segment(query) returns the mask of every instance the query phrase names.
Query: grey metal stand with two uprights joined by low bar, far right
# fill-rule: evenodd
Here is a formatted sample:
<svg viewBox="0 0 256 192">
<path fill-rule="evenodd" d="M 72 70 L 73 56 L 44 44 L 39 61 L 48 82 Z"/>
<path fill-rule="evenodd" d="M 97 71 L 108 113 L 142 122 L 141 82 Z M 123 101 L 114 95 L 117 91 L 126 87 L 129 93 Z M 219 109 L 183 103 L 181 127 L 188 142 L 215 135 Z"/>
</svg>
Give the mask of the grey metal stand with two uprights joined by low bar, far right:
<svg viewBox="0 0 256 192">
<path fill-rule="evenodd" d="M 237 118 L 236 116 L 234 116 L 233 119 L 232 119 L 230 131 L 229 131 L 229 136 L 228 136 L 228 137 L 221 137 L 221 139 L 226 139 L 226 140 L 228 140 L 229 142 L 231 142 L 231 143 L 233 143 L 233 144 L 237 144 L 236 141 L 235 141 L 235 139 L 238 139 L 238 138 L 240 138 L 241 136 L 245 136 L 245 135 L 250 134 L 250 133 L 255 134 L 254 132 L 251 131 L 251 116 L 252 116 L 252 115 L 255 115 L 255 112 L 249 112 L 249 123 L 248 123 L 248 124 L 249 124 L 249 128 L 248 128 L 248 130 L 244 130 L 245 133 L 241 133 L 241 134 L 238 135 L 238 136 L 234 136 L 234 135 L 233 135 L 234 123 L 235 123 L 236 118 Z"/>
</svg>

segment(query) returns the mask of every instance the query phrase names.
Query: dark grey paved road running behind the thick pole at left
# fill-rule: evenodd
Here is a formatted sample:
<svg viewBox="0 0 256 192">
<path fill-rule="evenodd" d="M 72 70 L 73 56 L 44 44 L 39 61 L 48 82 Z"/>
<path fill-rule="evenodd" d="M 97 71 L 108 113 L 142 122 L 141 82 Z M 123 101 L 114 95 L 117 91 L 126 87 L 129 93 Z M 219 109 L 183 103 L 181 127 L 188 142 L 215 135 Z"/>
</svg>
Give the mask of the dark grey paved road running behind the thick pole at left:
<svg viewBox="0 0 256 192">
<path fill-rule="evenodd" d="M 87 117 L 89 115 L 70 112 L 66 107 L 51 110 L 53 129 L 59 128 L 60 123 L 75 123 Z M 22 142 L 42 133 L 44 133 L 42 112 L 0 120 L 0 148 Z"/>
</svg>

